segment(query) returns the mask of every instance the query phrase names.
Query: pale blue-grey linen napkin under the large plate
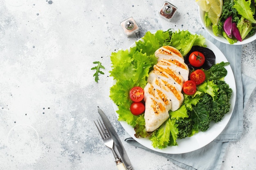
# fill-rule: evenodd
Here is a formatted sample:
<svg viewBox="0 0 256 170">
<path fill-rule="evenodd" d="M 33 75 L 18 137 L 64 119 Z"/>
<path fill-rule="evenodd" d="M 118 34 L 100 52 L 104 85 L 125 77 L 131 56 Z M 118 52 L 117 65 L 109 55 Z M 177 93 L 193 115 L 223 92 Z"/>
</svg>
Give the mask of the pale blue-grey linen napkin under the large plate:
<svg viewBox="0 0 256 170">
<path fill-rule="evenodd" d="M 155 152 L 142 146 L 128 134 L 125 141 L 134 146 L 144 148 L 149 152 L 154 152 L 155 154 L 167 157 L 170 161 L 186 170 L 220 170 L 222 159 L 225 155 L 229 141 L 238 140 L 243 133 L 243 108 L 256 86 L 256 81 L 241 73 L 241 45 L 229 45 L 218 42 L 205 31 L 197 33 L 204 35 L 205 38 L 213 42 L 213 44 L 222 51 L 230 62 L 230 66 L 234 73 L 236 80 L 236 104 L 231 119 L 229 120 L 229 124 L 210 144 L 193 152 L 184 154 L 164 154 Z"/>
</svg>

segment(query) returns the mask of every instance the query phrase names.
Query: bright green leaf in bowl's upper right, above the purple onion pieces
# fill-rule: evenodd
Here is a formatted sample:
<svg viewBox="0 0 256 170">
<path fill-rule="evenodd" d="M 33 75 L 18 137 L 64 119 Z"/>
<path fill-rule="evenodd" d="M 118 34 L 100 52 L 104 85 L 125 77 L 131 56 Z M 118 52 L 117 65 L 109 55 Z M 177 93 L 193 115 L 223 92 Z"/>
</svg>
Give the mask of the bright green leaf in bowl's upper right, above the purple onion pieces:
<svg viewBox="0 0 256 170">
<path fill-rule="evenodd" d="M 256 20 L 254 19 L 254 13 L 252 12 L 251 9 L 251 0 L 234 0 L 234 6 L 233 8 L 235 8 L 238 11 L 239 15 L 242 15 L 244 18 L 246 18 L 247 20 L 249 20 L 250 22 L 256 24 Z"/>
</svg>

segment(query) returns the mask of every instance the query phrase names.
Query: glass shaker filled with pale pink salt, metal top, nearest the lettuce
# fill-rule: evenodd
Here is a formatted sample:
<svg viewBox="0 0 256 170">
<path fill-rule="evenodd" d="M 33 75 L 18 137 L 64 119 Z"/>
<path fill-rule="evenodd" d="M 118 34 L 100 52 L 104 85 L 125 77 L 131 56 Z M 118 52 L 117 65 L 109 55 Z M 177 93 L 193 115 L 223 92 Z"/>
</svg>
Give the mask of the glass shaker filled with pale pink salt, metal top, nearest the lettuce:
<svg viewBox="0 0 256 170">
<path fill-rule="evenodd" d="M 137 25 L 137 23 L 135 22 L 133 17 L 130 17 L 130 18 L 122 21 L 120 23 L 120 25 L 123 28 L 124 33 L 128 37 L 131 35 L 134 35 L 135 33 L 137 33 L 139 31 L 139 26 Z"/>
</svg>

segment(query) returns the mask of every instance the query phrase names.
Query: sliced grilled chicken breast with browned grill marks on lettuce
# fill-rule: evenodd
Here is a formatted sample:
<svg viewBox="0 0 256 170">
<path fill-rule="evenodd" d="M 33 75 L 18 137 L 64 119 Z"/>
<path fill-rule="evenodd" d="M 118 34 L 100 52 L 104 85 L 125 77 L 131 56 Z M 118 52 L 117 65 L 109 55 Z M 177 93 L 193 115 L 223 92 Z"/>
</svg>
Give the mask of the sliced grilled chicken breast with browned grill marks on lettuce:
<svg viewBox="0 0 256 170">
<path fill-rule="evenodd" d="M 189 77 L 189 68 L 179 50 L 172 46 L 162 46 L 155 51 L 155 56 L 157 64 L 149 73 L 144 88 L 147 132 L 159 128 L 169 118 L 169 110 L 180 108 L 184 100 L 182 86 Z"/>
</svg>

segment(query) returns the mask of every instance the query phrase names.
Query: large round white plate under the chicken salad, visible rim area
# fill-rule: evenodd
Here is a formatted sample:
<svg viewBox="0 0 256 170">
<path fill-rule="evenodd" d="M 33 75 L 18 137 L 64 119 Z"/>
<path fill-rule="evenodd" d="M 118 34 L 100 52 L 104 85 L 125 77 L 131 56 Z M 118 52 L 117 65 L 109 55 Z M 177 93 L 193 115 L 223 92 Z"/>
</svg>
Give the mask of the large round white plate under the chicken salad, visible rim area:
<svg viewBox="0 0 256 170">
<path fill-rule="evenodd" d="M 192 34 L 195 34 L 195 33 L 192 33 Z M 220 63 L 222 61 L 228 62 L 224 54 L 212 42 L 206 39 L 205 44 L 207 45 L 207 48 L 211 49 L 215 54 L 216 63 Z M 133 47 L 133 46 L 135 46 L 135 43 L 132 44 L 130 47 Z M 181 153 L 191 152 L 206 146 L 211 141 L 213 141 L 218 135 L 220 135 L 222 130 L 224 130 L 224 128 L 227 126 L 229 119 L 233 113 L 235 102 L 236 102 L 236 82 L 235 82 L 234 74 L 230 65 L 225 66 L 225 68 L 227 69 L 227 76 L 225 77 L 225 82 L 229 84 L 229 87 L 233 91 L 231 95 L 231 100 L 230 100 L 231 107 L 230 107 L 229 113 L 227 113 L 220 122 L 218 123 L 212 122 L 210 124 L 210 128 L 207 131 L 205 132 L 200 131 L 195 135 L 193 135 L 192 137 L 186 137 L 185 139 L 177 139 L 178 146 L 168 146 L 167 148 L 164 148 L 164 149 L 158 149 L 158 148 L 154 148 L 151 145 L 151 141 L 148 138 L 141 138 L 141 137 L 136 138 L 134 136 L 135 134 L 134 129 L 132 128 L 132 126 L 128 125 L 125 121 L 120 121 L 121 125 L 124 127 L 126 132 L 133 139 L 139 142 L 139 144 L 157 152 L 168 153 L 168 154 L 181 154 Z M 115 104 L 113 104 L 113 106 L 115 111 L 117 111 L 118 110 L 117 106 Z M 117 117 L 119 116 L 117 113 L 116 115 Z"/>
</svg>

